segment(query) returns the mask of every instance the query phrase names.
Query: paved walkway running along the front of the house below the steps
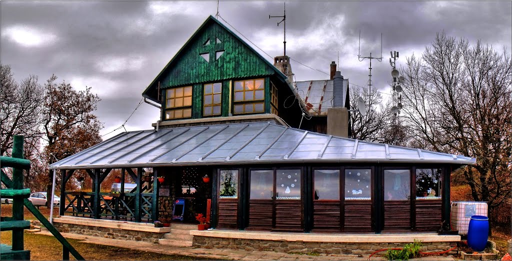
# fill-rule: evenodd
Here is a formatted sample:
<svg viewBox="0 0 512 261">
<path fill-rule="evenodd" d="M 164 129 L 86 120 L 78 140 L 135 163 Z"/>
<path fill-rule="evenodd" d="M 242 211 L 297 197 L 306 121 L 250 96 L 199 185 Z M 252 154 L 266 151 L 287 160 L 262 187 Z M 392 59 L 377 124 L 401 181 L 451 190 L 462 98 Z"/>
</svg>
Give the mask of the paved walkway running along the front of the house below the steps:
<svg viewBox="0 0 512 261">
<path fill-rule="evenodd" d="M 48 231 L 37 232 L 37 234 L 52 235 Z M 105 239 L 97 236 L 80 235 L 73 233 L 61 233 L 65 238 L 77 239 L 83 243 L 114 246 L 121 248 L 137 249 L 141 251 L 156 252 L 162 254 L 178 254 L 197 256 L 203 258 L 216 258 L 228 260 L 368 260 L 369 255 L 300 255 L 278 253 L 271 251 L 245 251 L 234 249 L 205 249 L 205 248 L 188 248 L 188 247 L 172 247 L 165 245 L 152 244 L 140 241 L 125 241 L 116 239 Z M 386 260 L 380 256 L 372 256 L 371 260 Z M 455 260 L 453 256 L 428 256 L 414 258 L 412 260 Z"/>
</svg>

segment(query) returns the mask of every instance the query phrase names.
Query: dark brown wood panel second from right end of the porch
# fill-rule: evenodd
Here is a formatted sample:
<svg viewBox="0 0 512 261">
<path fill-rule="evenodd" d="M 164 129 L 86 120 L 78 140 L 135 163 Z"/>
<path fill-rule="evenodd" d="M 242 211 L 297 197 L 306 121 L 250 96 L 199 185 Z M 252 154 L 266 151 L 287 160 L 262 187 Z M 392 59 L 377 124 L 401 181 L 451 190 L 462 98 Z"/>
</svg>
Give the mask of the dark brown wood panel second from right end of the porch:
<svg viewBox="0 0 512 261">
<path fill-rule="evenodd" d="M 411 229 L 411 202 L 385 201 L 384 228 L 395 230 Z"/>
</svg>

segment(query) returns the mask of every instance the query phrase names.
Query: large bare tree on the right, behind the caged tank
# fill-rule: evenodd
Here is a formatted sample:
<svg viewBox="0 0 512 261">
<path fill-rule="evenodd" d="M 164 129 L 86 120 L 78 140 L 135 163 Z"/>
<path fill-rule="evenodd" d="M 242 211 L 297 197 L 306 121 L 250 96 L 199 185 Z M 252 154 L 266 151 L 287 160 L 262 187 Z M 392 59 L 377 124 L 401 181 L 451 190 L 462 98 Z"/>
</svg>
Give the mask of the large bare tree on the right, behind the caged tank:
<svg viewBox="0 0 512 261">
<path fill-rule="evenodd" d="M 511 196 L 512 62 L 480 41 L 470 46 L 437 34 L 418 59 L 407 59 L 404 111 L 417 144 L 476 157 L 461 181 L 489 208 Z"/>
</svg>

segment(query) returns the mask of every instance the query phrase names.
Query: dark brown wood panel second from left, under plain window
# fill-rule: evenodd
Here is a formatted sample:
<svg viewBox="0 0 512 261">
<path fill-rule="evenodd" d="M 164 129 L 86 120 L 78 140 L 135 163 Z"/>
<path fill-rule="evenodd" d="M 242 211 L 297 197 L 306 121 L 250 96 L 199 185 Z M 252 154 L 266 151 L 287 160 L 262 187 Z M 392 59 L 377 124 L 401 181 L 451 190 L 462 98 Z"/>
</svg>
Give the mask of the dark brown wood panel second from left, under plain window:
<svg viewBox="0 0 512 261">
<path fill-rule="evenodd" d="M 249 200 L 249 226 L 246 230 L 272 230 L 272 200 Z"/>
</svg>

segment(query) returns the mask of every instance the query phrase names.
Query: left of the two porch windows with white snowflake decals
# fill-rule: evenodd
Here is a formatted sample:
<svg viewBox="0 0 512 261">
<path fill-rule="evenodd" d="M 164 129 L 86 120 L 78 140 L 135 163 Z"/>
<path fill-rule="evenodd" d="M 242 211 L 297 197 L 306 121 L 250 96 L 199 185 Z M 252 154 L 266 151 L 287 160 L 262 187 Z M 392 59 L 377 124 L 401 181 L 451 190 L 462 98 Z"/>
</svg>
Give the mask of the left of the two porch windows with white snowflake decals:
<svg viewBox="0 0 512 261">
<path fill-rule="evenodd" d="M 301 170 L 276 170 L 276 199 L 301 199 Z"/>
</svg>

